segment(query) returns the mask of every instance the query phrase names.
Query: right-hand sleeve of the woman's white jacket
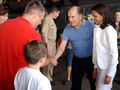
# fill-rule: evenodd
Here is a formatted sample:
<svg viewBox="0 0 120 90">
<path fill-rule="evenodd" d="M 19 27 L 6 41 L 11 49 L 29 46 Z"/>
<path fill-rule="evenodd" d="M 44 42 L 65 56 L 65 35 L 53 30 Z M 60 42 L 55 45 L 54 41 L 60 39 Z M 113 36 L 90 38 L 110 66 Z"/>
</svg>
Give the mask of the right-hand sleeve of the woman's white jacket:
<svg viewBox="0 0 120 90">
<path fill-rule="evenodd" d="M 110 60 L 109 68 L 107 71 L 108 76 L 113 76 L 114 70 L 116 70 L 118 64 L 118 48 L 117 48 L 117 32 L 113 27 L 107 28 L 107 38 L 109 42 L 109 52 L 110 52 Z"/>
</svg>

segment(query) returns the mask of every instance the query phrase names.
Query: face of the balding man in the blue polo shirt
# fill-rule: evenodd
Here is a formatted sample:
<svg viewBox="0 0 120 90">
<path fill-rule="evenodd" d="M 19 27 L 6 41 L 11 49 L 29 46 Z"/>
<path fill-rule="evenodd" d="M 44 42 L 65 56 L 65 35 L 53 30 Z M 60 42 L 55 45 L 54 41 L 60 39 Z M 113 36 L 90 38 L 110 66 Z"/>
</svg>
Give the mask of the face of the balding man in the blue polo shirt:
<svg viewBox="0 0 120 90">
<path fill-rule="evenodd" d="M 71 26 L 79 28 L 82 21 L 82 14 L 78 14 L 77 9 L 72 8 L 68 11 L 68 20 Z"/>
</svg>

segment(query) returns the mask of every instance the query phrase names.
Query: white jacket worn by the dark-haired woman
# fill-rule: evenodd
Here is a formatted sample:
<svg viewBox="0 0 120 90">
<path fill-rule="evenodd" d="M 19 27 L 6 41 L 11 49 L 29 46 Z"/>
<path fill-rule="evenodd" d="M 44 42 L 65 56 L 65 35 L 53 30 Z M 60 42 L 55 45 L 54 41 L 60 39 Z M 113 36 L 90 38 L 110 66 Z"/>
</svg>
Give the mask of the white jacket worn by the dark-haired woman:
<svg viewBox="0 0 120 90">
<path fill-rule="evenodd" d="M 94 29 L 93 64 L 95 68 L 107 69 L 109 76 L 118 64 L 117 32 L 110 25 L 105 29 L 96 25 Z"/>
</svg>

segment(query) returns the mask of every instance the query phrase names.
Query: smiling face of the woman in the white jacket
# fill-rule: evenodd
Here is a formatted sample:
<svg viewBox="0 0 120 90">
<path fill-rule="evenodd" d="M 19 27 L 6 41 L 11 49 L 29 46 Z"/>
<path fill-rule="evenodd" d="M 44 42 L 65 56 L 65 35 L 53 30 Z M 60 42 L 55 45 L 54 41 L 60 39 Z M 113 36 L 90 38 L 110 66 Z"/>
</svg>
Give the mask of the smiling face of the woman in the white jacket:
<svg viewBox="0 0 120 90">
<path fill-rule="evenodd" d="M 100 25 L 103 22 L 103 16 L 101 16 L 95 10 L 92 10 L 92 20 L 96 25 Z"/>
</svg>

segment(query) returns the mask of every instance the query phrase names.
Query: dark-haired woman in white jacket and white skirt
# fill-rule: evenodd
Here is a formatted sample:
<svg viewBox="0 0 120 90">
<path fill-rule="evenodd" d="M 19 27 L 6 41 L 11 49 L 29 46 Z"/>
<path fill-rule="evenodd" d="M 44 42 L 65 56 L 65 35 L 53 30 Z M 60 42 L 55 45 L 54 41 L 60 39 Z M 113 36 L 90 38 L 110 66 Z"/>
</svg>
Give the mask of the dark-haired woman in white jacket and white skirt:
<svg viewBox="0 0 120 90">
<path fill-rule="evenodd" d="M 117 32 L 109 8 L 104 4 L 92 7 L 94 28 L 93 77 L 96 90 L 111 90 L 118 64 Z"/>
</svg>

